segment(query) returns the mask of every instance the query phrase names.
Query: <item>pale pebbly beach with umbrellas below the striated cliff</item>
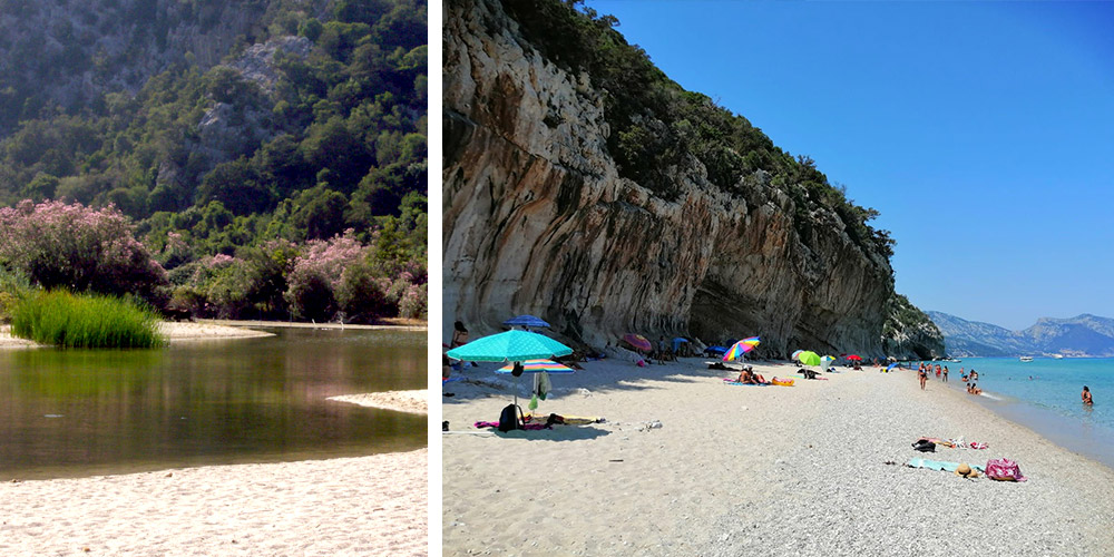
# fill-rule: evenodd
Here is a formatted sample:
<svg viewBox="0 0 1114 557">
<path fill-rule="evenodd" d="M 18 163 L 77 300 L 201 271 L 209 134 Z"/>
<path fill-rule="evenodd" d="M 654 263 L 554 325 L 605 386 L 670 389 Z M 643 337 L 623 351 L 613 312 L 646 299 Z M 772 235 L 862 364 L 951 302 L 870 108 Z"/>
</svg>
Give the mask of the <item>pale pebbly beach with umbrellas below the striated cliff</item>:
<svg viewBox="0 0 1114 557">
<path fill-rule="evenodd" d="M 539 413 L 606 423 L 495 434 L 471 423 L 497 421 L 514 383 L 466 369 L 442 398 L 444 555 L 1110 555 L 1114 470 L 962 391 L 877 369 L 736 387 L 703 361 L 587 362 Z M 920 436 L 989 448 L 921 455 Z M 920 456 L 1006 457 L 1029 480 L 900 466 Z"/>
</svg>

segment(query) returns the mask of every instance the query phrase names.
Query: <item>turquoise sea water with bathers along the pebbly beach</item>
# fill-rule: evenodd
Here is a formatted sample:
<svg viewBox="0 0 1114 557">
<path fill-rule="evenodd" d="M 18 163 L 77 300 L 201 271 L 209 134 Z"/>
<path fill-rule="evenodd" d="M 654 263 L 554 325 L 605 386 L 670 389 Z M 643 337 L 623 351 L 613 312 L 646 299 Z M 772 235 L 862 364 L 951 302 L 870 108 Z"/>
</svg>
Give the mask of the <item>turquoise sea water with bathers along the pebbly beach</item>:
<svg viewBox="0 0 1114 557">
<path fill-rule="evenodd" d="M 941 365 L 946 362 L 938 362 Z M 978 371 L 990 410 L 1049 441 L 1114 468 L 1114 359 L 1110 358 L 964 358 L 946 363 L 948 385 L 964 389 L 959 369 Z M 930 375 L 936 380 L 936 375 Z M 1083 385 L 1095 404 L 1083 405 Z"/>
</svg>

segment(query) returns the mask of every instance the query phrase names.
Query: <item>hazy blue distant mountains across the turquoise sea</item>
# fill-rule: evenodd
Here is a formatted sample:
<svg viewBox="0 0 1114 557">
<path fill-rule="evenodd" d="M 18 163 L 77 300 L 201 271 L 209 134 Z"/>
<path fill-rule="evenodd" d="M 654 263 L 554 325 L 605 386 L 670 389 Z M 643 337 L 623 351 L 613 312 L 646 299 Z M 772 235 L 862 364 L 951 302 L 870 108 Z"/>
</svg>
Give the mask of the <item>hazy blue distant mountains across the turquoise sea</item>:
<svg viewBox="0 0 1114 557">
<path fill-rule="evenodd" d="M 950 355 L 1114 356 L 1114 319 L 1089 314 L 1069 319 L 1040 317 L 1028 329 L 1010 331 L 942 312 L 927 313 L 944 332 Z"/>
</svg>

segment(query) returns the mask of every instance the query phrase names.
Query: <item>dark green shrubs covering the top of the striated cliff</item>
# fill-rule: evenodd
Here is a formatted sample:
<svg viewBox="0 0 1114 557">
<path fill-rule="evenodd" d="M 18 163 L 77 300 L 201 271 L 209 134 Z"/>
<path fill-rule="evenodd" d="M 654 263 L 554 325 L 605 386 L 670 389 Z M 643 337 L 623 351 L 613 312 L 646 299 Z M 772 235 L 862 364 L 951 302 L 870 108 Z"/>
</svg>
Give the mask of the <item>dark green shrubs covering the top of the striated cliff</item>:
<svg viewBox="0 0 1114 557">
<path fill-rule="evenodd" d="M 626 42 L 614 29 L 617 19 L 582 4 L 583 0 L 502 0 L 504 9 L 546 58 L 566 69 L 586 71 L 605 92 L 605 116 L 612 129 L 607 148 L 620 176 L 671 198 L 677 192 L 670 173 L 695 158 L 707 179 L 725 190 L 772 186 L 788 193 L 805 242 L 812 221 L 808 214 L 825 208 L 839 216 L 853 242 L 892 255 L 889 233 L 867 224 L 878 213 L 848 199 L 846 189 L 833 187 L 811 158 L 793 157 L 746 118 L 716 106 L 705 95 L 684 90 L 643 49 Z"/>
</svg>

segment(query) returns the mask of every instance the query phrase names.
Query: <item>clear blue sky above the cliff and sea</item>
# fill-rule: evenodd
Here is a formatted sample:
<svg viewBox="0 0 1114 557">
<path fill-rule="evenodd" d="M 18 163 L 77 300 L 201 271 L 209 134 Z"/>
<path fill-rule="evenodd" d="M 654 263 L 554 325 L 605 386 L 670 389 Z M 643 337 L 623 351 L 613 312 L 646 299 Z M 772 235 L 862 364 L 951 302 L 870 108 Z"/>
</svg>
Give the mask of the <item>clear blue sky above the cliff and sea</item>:
<svg viewBox="0 0 1114 557">
<path fill-rule="evenodd" d="M 880 211 L 922 310 L 1114 317 L 1114 3 L 587 6 Z"/>
</svg>

